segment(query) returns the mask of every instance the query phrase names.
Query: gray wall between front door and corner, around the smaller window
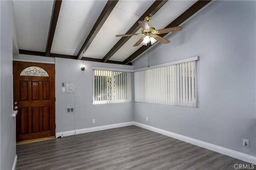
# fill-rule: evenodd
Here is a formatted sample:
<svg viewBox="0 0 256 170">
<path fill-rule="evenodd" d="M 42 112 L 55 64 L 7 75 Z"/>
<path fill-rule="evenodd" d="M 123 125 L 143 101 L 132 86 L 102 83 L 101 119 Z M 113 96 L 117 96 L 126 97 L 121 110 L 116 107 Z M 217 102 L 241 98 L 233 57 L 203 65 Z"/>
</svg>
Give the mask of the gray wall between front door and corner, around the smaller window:
<svg viewBox="0 0 256 170">
<path fill-rule="evenodd" d="M 82 71 L 81 65 L 82 61 L 56 58 L 56 132 L 133 121 L 132 102 L 92 104 L 92 66 L 124 69 L 133 66 L 86 61 L 86 69 Z M 63 93 L 62 82 L 75 82 L 75 94 Z M 68 107 L 75 107 L 75 113 L 66 114 Z"/>
</svg>

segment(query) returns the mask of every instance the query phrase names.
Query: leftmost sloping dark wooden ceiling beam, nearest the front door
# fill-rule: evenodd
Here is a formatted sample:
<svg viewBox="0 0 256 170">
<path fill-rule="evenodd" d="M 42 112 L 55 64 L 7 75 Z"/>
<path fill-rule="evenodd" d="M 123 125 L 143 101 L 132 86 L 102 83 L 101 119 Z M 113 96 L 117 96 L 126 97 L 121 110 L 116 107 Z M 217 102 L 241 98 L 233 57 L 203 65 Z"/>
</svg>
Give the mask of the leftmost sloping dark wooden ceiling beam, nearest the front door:
<svg viewBox="0 0 256 170">
<path fill-rule="evenodd" d="M 49 28 L 49 33 L 48 33 L 48 38 L 47 38 L 47 44 L 46 44 L 46 57 L 50 56 L 50 52 L 52 49 L 52 41 L 58 21 L 58 17 L 60 14 L 60 6 L 61 6 L 62 0 L 54 0 L 53 7 L 52 7 L 52 17 L 51 17 L 51 22 L 50 22 L 50 28 Z"/>
</svg>

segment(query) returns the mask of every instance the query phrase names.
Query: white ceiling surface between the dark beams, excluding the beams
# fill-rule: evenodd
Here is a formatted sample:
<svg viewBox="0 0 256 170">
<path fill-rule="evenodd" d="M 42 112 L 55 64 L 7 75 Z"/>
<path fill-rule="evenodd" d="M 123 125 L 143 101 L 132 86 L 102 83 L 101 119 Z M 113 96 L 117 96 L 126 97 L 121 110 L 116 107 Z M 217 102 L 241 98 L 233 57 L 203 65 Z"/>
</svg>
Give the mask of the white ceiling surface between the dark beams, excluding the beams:
<svg viewBox="0 0 256 170">
<path fill-rule="evenodd" d="M 45 52 L 53 2 L 52 0 L 13 1 L 19 49 Z M 150 25 L 156 29 L 163 29 L 195 2 L 195 0 L 166 2 L 152 16 Z M 62 0 L 50 53 L 76 56 L 106 3 L 106 0 Z M 120 40 L 121 37 L 115 35 L 125 34 L 153 3 L 152 0 L 119 0 L 83 57 L 102 59 Z M 139 33 L 140 29 L 137 32 Z M 132 36 L 110 60 L 124 61 L 142 46 L 133 47 L 140 37 L 142 35 Z"/>
</svg>

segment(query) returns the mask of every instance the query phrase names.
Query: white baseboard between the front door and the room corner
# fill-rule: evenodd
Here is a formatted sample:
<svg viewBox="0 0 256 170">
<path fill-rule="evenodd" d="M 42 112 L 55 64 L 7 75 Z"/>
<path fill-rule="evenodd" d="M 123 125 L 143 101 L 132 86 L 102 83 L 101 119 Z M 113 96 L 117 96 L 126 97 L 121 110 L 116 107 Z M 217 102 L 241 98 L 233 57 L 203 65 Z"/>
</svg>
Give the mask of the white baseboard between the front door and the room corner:
<svg viewBox="0 0 256 170">
<path fill-rule="evenodd" d="M 112 128 L 117 128 L 117 127 L 130 126 L 130 125 L 133 125 L 133 121 L 125 122 L 125 123 L 117 123 L 117 124 L 112 124 L 112 125 L 89 127 L 89 128 L 85 128 L 85 129 L 76 129 L 76 131 L 73 130 L 73 131 L 66 131 L 66 132 L 58 132 L 58 133 L 56 133 L 56 138 L 59 136 L 66 137 L 66 136 L 71 136 L 71 135 L 78 135 L 78 134 L 89 133 L 89 132 L 94 132 L 94 131 L 102 131 L 102 130 L 106 130 L 106 129 L 112 129 Z"/>
</svg>

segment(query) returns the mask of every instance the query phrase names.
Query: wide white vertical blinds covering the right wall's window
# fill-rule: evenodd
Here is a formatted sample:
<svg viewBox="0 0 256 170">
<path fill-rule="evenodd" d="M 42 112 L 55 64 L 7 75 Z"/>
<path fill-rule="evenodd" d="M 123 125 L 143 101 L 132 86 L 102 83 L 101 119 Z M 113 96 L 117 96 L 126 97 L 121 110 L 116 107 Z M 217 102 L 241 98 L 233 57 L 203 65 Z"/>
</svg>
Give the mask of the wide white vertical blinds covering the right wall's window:
<svg viewBox="0 0 256 170">
<path fill-rule="evenodd" d="M 197 61 L 134 72 L 135 102 L 198 107 Z"/>
</svg>

